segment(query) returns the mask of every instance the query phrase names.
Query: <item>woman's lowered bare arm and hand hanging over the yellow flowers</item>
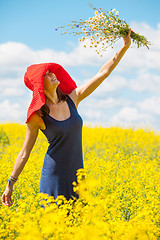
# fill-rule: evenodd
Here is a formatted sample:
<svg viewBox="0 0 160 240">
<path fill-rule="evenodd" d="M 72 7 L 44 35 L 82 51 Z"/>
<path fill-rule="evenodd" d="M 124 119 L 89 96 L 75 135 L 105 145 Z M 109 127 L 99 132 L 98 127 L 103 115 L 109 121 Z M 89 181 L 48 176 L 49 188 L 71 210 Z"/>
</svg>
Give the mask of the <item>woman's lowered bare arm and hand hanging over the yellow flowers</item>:
<svg viewBox="0 0 160 240">
<path fill-rule="evenodd" d="M 22 147 L 22 150 L 17 156 L 16 162 L 14 164 L 14 168 L 12 171 L 12 176 L 18 178 L 20 173 L 22 172 L 26 162 L 28 161 L 30 152 L 32 151 L 32 148 L 36 142 L 38 131 L 39 131 L 39 124 L 37 124 L 37 116 L 34 116 L 31 118 L 31 120 L 27 123 L 27 132 L 25 141 Z M 6 189 L 2 195 L 2 204 L 5 206 L 11 206 L 12 205 L 12 191 L 13 191 L 13 185 L 14 182 L 10 181 L 10 185 L 7 182 Z"/>
</svg>

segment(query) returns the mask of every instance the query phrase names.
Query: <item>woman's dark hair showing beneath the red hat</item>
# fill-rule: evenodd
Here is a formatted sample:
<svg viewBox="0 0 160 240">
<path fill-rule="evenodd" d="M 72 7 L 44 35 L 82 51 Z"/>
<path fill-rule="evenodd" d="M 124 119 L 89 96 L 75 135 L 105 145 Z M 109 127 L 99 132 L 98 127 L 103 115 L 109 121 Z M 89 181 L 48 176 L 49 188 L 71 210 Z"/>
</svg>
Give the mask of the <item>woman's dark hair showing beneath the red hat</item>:
<svg viewBox="0 0 160 240">
<path fill-rule="evenodd" d="M 56 89 L 57 92 L 57 96 L 58 96 L 58 102 L 60 101 L 67 101 L 68 96 L 66 94 L 64 94 L 59 87 L 57 87 Z M 44 116 L 48 116 L 50 113 L 50 109 L 47 106 L 47 104 L 45 103 L 38 111 L 37 111 L 38 115 L 40 117 L 44 117 Z"/>
</svg>

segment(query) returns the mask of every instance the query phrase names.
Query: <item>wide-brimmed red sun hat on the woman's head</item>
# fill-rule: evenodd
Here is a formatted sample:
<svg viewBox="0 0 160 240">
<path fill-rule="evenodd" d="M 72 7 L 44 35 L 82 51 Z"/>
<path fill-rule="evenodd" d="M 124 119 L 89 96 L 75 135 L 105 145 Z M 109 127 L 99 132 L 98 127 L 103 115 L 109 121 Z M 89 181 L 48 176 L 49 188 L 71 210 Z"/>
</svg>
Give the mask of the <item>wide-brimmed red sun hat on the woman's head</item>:
<svg viewBox="0 0 160 240">
<path fill-rule="evenodd" d="M 58 87 L 64 94 L 71 93 L 77 87 L 71 76 L 57 63 L 41 63 L 29 66 L 24 75 L 24 83 L 33 91 L 33 97 L 27 111 L 27 120 L 25 123 L 29 121 L 34 112 L 45 104 L 43 76 L 48 70 L 56 75 L 60 82 Z"/>
</svg>

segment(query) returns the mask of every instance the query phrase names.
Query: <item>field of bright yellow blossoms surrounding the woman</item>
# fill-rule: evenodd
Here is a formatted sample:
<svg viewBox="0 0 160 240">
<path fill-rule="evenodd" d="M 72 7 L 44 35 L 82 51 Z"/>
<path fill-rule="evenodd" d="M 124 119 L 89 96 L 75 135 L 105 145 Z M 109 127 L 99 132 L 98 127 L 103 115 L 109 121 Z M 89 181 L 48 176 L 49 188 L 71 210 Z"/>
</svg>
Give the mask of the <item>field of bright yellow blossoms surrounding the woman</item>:
<svg viewBox="0 0 160 240">
<path fill-rule="evenodd" d="M 25 125 L 0 125 L 0 195 L 25 133 Z M 160 239 L 159 133 L 85 126 L 85 170 L 79 170 L 79 184 L 74 184 L 77 201 L 60 196 L 55 203 L 39 193 L 47 146 L 40 132 L 14 185 L 14 204 L 9 208 L 0 203 L 0 239 Z"/>
</svg>

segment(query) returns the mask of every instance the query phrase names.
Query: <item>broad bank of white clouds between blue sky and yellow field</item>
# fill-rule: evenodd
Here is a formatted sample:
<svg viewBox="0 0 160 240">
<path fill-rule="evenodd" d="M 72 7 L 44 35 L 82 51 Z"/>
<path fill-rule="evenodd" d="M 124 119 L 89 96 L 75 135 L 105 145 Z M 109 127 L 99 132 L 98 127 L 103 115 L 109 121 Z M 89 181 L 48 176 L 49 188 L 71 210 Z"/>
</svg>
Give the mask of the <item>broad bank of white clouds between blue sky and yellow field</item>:
<svg viewBox="0 0 160 240">
<path fill-rule="evenodd" d="M 160 105 L 160 24 L 158 24 L 155 29 L 146 23 L 133 22 L 130 26 L 135 32 L 140 32 L 146 36 L 148 40 L 152 42 L 152 46 L 150 50 L 145 47 L 139 49 L 133 47 L 127 51 L 124 58 L 114 70 L 114 73 L 98 87 L 91 97 L 85 100 L 85 105 L 82 104 L 82 107 L 80 107 L 84 121 L 104 122 L 106 118 L 111 119 L 110 122 L 113 124 L 127 124 L 127 122 L 140 123 L 141 121 L 155 123 L 155 121 L 158 121 L 157 116 L 159 117 L 160 114 L 158 110 Z M 77 46 L 74 45 L 72 51 L 69 53 L 63 51 L 58 52 L 54 49 L 37 51 L 23 43 L 16 42 L 1 44 L 0 90 L 3 102 L 0 103 L 0 111 L 3 112 L 3 114 L 1 114 L 0 120 L 4 121 L 9 119 L 19 122 L 20 119 L 24 119 L 26 106 L 30 103 L 31 97 L 29 96 L 30 93 L 27 95 L 27 89 L 24 88 L 23 76 L 26 68 L 30 64 L 57 62 L 64 67 L 76 67 L 77 74 L 79 69 L 82 71 L 82 68 L 78 67 L 84 66 L 82 75 L 88 78 L 92 75 L 92 71 L 95 72 L 95 70 L 99 70 L 102 64 L 114 56 L 115 52 L 118 51 L 122 45 L 123 41 L 120 40 L 113 50 L 107 49 L 101 58 L 93 49 L 89 47 L 84 48 L 80 43 L 78 43 Z M 81 76 L 79 79 L 81 79 Z M 78 83 L 85 82 L 84 80 L 80 82 L 79 79 L 77 81 Z M 126 98 L 125 96 L 119 98 L 116 95 L 119 92 L 121 93 L 122 89 L 126 92 L 128 91 Z M 10 97 L 18 96 L 20 99 L 24 91 L 26 91 L 25 107 L 24 98 L 19 103 L 13 104 Z M 154 96 L 146 99 L 145 91 L 151 95 L 154 94 Z M 137 102 L 137 100 L 134 99 L 134 96 L 136 98 L 135 92 L 143 92 L 141 102 Z M 130 94 L 132 100 L 128 100 Z M 112 111 L 112 109 L 115 110 L 115 108 L 116 110 L 118 108 L 118 113 L 113 115 L 114 111 Z M 108 114 L 109 118 L 106 117 L 104 113 L 106 115 Z"/>
</svg>

